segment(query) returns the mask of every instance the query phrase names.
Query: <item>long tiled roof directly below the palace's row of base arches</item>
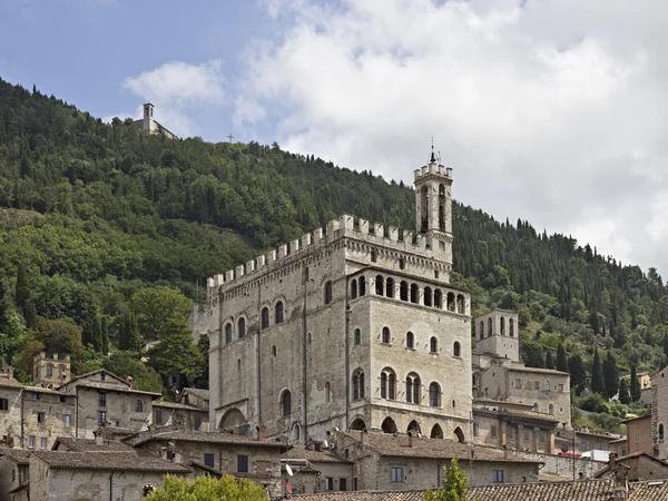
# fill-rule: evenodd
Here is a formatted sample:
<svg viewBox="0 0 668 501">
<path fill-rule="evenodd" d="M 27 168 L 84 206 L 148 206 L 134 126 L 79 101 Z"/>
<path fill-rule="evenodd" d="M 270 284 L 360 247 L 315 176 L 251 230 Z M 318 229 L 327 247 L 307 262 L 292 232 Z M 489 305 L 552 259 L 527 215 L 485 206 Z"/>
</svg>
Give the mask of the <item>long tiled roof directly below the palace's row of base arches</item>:
<svg viewBox="0 0 668 501">
<path fill-rule="evenodd" d="M 412 446 L 409 446 L 410 438 L 407 435 L 391 435 L 389 433 L 364 433 L 364 432 L 345 432 L 344 435 L 351 436 L 356 441 L 364 442 L 365 448 L 370 448 L 382 455 L 390 456 L 410 456 L 410 458 L 433 458 L 433 459 L 451 459 L 460 458 L 462 461 L 471 459 L 471 444 L 459 443 L 453 440 L 428 439 L 425 436 L 412 438 Z M 364 436 L 362 436 L 362 434 Z M 508 458 L 504 456 L 504 451 L 497 448 L 485 448 L 475 445 L 474 461 L 499 461 L 514 463 L 540 463 L 541 461 L 531 461 L 521 458 L 514 458 L 511 451 L 508 451 Z"/>
</svg>

